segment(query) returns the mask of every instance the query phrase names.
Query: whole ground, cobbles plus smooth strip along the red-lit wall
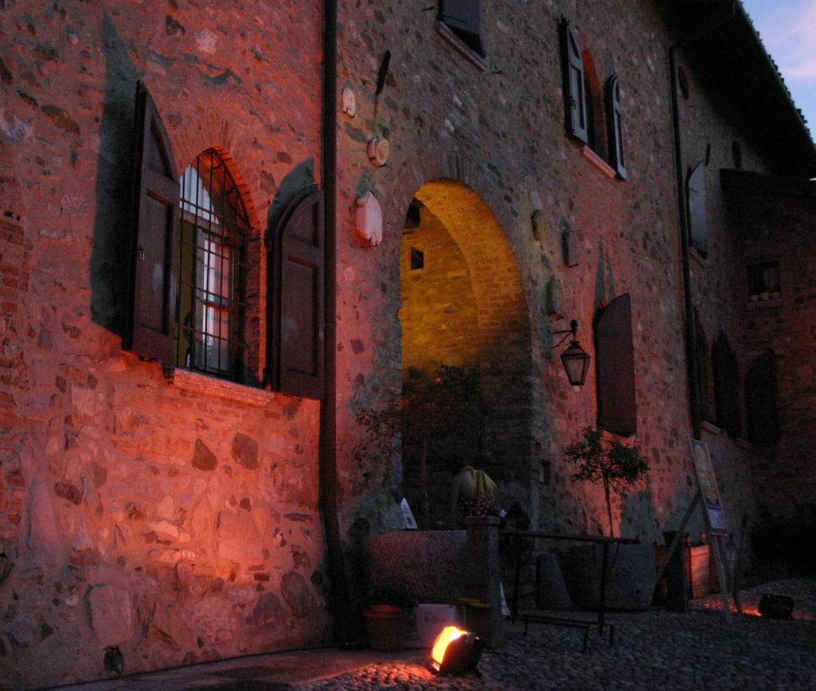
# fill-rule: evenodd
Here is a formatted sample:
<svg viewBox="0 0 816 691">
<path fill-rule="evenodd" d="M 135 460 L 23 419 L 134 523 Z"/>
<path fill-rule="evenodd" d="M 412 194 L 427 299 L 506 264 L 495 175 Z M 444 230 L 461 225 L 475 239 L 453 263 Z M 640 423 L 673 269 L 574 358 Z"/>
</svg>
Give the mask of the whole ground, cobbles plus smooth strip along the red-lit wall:
<svg viewBox="0 0 816 691">
<path fill-rule="evenodd" d="M 792 621 L 756 616 L 762 593 L 792 596 Z M 743 591 L 747 614 L 729 624 L 720 596 L 694 603 L 690 614 L 652 609 L 610 614 L 611 648 L 593 631 L 531 624 L 510 627 L 487 649 L 477 675 L 438 677 L 427 653 L 312 650 L 234 658 L 175 670 L 70 687 L 71 691 L 816 691 L 816 581 L 785 580 Z M 326 678 L 327 675 L 335 675 Z M 304 683 L 302 680 L 311 679 Z M 68 691 L 64 688 L 62 691 Z"/>
</svg>

